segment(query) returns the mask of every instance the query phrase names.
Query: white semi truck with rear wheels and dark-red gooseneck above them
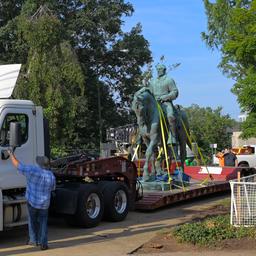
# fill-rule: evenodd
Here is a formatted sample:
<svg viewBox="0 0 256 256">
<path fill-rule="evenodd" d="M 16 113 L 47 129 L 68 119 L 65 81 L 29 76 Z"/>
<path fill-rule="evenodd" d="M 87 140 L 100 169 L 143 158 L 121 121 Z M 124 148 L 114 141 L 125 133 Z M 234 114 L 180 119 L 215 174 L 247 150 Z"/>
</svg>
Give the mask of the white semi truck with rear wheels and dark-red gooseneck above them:
<svg viewBox="0 0 256 256">
<path fill-rule="evenodd" d="M 19 70 L 20 65 L 0 66 L 0 231 L 27 223 L 26 180 L 8 159 L 10 144 L 18 145 L 15 156 L 25 164 L 35 164 L 38 155 L 50 157 L 49 129 L 42 107 L 32 101 L 10 99 Z M 10 133 L 10 126 L 17 129 Z M 63 163 L 69 169 L 63 169 Z M 103 214 L 111 221 L 122 221 L 130 206 L 134 208 L 139 194 L 137 169 L 128 159 L 90 160 L 77 155 L 64 162 L 57 159 L 52 167 L 57 169 L 53 172 L 59 180 L 51 210 L 64 215 L 68 223 L 95 227 Z"/>
</svg>

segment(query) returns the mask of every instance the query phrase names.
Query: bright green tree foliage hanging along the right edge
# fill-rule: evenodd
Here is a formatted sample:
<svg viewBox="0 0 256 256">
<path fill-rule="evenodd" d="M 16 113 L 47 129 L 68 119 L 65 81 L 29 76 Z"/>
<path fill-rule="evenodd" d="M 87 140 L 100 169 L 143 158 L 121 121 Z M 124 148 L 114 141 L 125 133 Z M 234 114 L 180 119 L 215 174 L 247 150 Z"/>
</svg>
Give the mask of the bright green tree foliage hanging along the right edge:
<svg viewBox="0 0 256 256">
<path fill-rule="evenodd" d="M 208 34 L 203 39 L 222 53 L 220 67 L 235 80 L 232 92 L 249 114 L 242 125 L 243 137 L 256 136 L 256 1 L 204 0 Z M 251 125 L 254 125 L 251 127 Z"/>
</svg>

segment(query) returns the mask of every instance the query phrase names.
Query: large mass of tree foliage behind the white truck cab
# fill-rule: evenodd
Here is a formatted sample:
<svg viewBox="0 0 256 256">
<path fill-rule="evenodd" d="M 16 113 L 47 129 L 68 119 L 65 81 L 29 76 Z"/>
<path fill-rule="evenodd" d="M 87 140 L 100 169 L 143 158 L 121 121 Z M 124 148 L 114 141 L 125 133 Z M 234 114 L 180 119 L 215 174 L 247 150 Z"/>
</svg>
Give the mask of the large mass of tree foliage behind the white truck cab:
<svg viewBox="0 0 256 256">
<path fill-rule="evenodd" d="M 23 64 L 15 97 L 44 107 L 54 147 L 95 148 L 100 123 L 129 122 L 151 61 L 141 25 L 122 30 L 132 13 L 124 0 L 0 1 L 0 63 Z"/>
</svg>

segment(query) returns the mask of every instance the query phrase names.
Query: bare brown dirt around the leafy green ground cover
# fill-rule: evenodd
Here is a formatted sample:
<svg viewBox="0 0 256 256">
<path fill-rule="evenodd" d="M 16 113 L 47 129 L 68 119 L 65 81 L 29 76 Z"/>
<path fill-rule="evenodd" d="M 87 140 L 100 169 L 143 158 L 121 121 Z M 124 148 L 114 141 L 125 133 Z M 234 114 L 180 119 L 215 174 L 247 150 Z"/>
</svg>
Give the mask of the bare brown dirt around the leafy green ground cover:
<svg viewBox="0 0 256 256">
<path fill-rule="evenodd" d="M 198 221 L 210 216 L 217 216 L 221 214 L 229 213 L 230 209 L 227 206 L 216 205 L 203 212 L 203 214 L 194 215 L 191 221 Z M 170 234 L 169 230 L 158 232 L 158 234 L 141 247 L 137 248 L 133 253 L 136 254 L 159 254 L 159 253 L 176 253 L 176 252 L 190 252 L 190 253 L 202 253 L 214 252 L 217 254 L 219 251 L 248 251 L 256 250 L 256 241 L 254 239 L 230 239 L 222 241 L 214 248 L 199 247 L 192 244 L 178 243 L 174 237 Z M 245 254 L 246 255 L 246 254 Z"/>
</svg>

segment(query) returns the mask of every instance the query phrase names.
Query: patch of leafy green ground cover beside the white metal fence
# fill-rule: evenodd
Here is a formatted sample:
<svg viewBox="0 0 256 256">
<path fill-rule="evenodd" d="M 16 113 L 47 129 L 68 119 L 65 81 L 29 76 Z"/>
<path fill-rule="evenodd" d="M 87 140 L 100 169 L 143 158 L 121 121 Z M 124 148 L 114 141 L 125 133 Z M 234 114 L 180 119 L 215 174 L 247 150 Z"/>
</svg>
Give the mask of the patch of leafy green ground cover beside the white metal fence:
<svg viewBox="0 0 256 256">
<path fill-rule="evenodd" d="M 172 233 L 179 242 L 199 246 L 216 246 L 218 242 L 226 239 L 256 238 L 255 228 L 236 228 L 229 223 L 230 216 L 221 215 L 183 224 L 174 228 Z"/>
</svg>

